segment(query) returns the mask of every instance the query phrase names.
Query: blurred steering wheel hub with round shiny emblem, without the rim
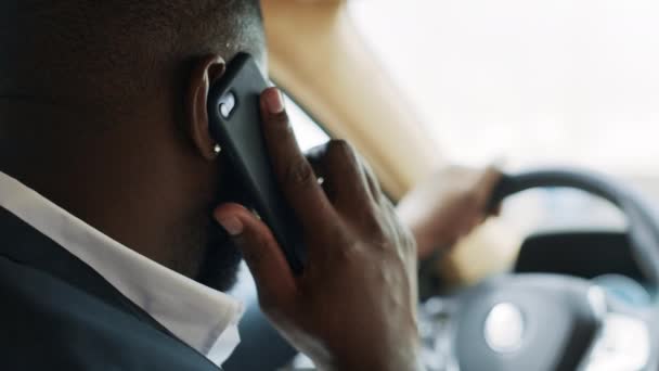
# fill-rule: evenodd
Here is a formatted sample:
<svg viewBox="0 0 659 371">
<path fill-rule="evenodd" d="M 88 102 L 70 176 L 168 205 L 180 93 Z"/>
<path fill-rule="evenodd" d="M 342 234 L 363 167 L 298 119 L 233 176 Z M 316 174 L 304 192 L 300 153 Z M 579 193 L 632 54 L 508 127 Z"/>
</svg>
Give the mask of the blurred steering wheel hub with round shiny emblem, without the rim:
<svg viewBox="0 0 659 371">
<path fill-rule="evenodd" d="M 553 274 L 487 280 L 461 302 L 453 344 L 463 370 L 574 370 L 606 312 L 602 289 Z"/>
</svg>

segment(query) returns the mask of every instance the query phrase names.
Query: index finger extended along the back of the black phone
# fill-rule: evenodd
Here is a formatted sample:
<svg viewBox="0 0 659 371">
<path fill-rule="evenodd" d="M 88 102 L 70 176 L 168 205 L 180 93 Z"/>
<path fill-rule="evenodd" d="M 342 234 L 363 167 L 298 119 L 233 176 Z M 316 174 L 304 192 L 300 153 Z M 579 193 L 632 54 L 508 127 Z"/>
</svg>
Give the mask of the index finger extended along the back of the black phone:
<svg viewBox="0 0 659 371">
<path fill-rule="evenodd" d="M 282 94 L 275 88 L 263 91 L 261 116 L 266 144 L 284 196 L 306 232 L 322 233 L 323 226 L 335 215 L 311 165 L 299 150 Z"/>
</svg>

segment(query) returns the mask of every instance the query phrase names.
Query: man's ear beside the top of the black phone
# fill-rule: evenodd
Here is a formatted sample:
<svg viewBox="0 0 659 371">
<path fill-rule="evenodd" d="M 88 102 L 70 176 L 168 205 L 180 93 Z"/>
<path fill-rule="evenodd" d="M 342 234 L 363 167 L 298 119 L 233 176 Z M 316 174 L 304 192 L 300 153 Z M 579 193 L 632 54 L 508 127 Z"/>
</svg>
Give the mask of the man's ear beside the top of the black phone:
<svg viewBox="0 0 659 371">
<path fill-rule="evenodd" d="M 208 55 L 197 61 L 190 76 L 185 112 L 188 114 L 188 132 L 199 154 L 208 159 L 216 158 L 216 142 L 208 129 L 208 90 L 210 84 L 220 78 L 227 64 L 219 55 Z"/>
</svg>

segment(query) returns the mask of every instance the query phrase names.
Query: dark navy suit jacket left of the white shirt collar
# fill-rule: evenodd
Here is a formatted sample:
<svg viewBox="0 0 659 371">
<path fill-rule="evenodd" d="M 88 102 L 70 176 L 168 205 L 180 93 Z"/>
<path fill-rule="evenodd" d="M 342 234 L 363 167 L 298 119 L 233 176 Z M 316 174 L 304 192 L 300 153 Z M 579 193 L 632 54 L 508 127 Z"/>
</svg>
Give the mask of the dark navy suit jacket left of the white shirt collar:
<svg viewBox="0 0 659 371">
<path fill-rule="evenodd" d="M 0 295 L 2 370 L 218 370 L 3 208 Z"/>
</svg>

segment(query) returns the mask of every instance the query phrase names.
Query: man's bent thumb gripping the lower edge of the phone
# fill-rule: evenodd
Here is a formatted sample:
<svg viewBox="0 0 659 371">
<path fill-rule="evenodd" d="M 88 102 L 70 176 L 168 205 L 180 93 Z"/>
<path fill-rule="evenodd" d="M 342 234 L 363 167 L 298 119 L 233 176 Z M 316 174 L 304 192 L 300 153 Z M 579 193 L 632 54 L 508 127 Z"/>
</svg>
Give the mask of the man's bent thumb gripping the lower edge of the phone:
<svg viewBox="0 0 659 371">
<path fill-rule="evenodd" d="M 262 307 L 276 305 L 293 293 L 295 279 L 270 228 L 245 207 L 223 204 L 214 216 L 243 252 L 251 271 Z"/>
</svg>

